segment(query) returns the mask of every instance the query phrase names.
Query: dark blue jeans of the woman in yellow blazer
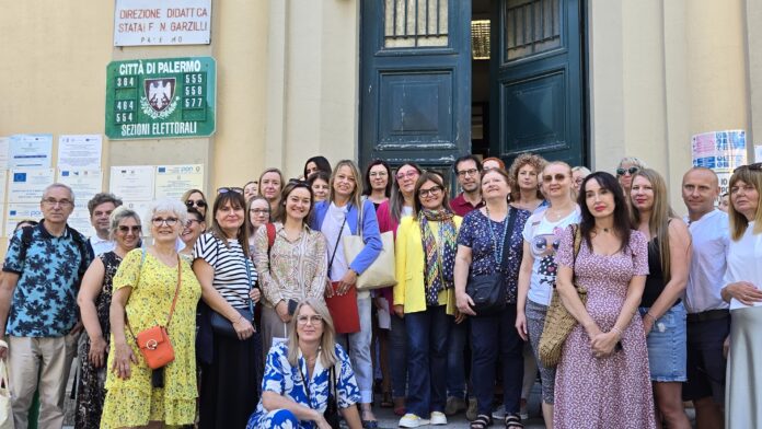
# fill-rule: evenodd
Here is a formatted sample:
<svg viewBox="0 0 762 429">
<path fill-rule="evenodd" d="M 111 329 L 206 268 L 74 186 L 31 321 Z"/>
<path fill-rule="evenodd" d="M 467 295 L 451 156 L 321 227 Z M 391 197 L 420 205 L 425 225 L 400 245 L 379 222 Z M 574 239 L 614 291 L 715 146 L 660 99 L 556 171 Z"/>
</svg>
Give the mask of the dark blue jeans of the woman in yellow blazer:
<svg viewBox="0 0 762 429">
<path fill-rule="evenodd" d="M 407 413 L 427 418 L 447 403 L 447 337 L 452 317 L 446 305 L 405 314 L 409 390 Z"/>
</svg>

